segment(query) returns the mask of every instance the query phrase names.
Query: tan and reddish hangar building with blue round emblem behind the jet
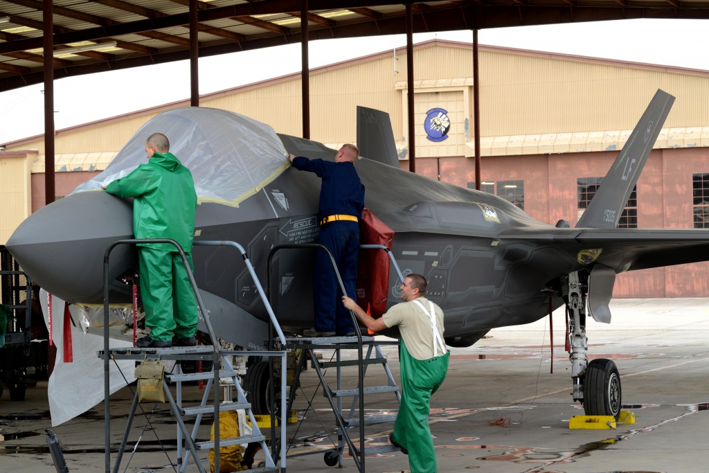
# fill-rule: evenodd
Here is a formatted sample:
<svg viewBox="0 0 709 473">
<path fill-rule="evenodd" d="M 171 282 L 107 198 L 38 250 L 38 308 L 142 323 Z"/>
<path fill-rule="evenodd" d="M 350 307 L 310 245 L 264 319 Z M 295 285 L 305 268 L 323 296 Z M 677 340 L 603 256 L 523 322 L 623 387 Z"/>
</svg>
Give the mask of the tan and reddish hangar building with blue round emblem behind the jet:
<svg viewBox="0 0 709 473">
<path fill-rule="evenodd" d="M 474 187 L 471 45 L 432 40 L 416 45 L 414 54 L 416 172 Z M 484 190 L 539 221 L 574 226 L 586 199 L 581 190 L 595 188 L 660 88 L 677 99 L 637 183 L 628 221 L 638 228 L 693 228 L 696 213 L 703 219 L 696 191 L 709 189 L 708 71 L 482 45 L 479 59 Z M 357 106 L 378 108 L 391 117 L 408 169 L 405 49 L 313 69 L 310 85 L 313 140 L 333 148 L 354 143 Z M 200 104 L 301 135 L 300 74 L 207 94 Z M 189 101 L 57 131 L 57 196 L 104 169 L 143 123 L 176 106 Z M 8 143 L 0 169 L 1 244 L 45 201 L 43 137 Z M 705 296 L 707 269 L 709 263 L 700 263 L 621 274 L 614 296 Z"/>
</svg>

